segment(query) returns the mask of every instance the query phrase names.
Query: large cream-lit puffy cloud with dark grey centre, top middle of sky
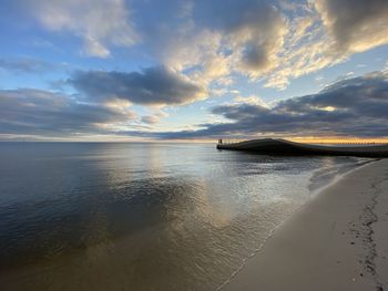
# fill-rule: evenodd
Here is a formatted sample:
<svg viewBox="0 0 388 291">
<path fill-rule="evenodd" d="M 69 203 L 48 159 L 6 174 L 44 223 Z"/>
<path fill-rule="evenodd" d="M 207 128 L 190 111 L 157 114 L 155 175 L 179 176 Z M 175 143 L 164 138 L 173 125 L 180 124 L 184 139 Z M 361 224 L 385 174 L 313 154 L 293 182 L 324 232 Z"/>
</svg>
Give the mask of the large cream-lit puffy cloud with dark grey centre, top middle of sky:
<svg viewBox="0 0 388 291">
<path fill-rule="evenodd" d="M 159 32 L 156 39 L 162 45 L 153 45 L 156 55 L 178 71 L 188 71 L 196 83 L 223 86 L 233 83 L 231 75 L 238 73 L 285 89 L 290 77 L 335 63 L 323 58 L 324 48 L 329 48 L 321 38 L 323 28 L 309 31 L 317 13 L 310 11 L 307 15 L 303 7 L 299 10 L 305 14 L 290 21 L 276 4 L 256 0 L 196 1 L 182 20 L 182 24 L 192 23 L 188 29 Z M 304 50 L 307 43 L 310 45 Z"/>
</svg>

